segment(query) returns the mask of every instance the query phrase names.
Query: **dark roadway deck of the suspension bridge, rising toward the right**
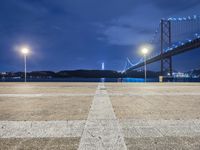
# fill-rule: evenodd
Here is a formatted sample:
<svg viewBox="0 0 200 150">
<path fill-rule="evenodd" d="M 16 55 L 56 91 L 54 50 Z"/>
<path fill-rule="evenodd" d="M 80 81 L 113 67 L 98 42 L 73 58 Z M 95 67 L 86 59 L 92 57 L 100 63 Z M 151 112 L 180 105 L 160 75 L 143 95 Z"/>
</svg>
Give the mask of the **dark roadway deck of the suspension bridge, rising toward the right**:
<svg viewBox="0 0 200 150">
<path fill-rule="evenodd" d="M 161 59 L 169 58 L 170 56 L 178 55 L 178 54 L 181 54 L 181 53 L 184 53 L 184 52 L 187 52 L 187 51 L 193 50 L 195 48 L 199 48 L 199 47 L 200 47 L 200 38 L 194 39 L 191 42 L 184 43 L 184 45 L 180 45 L 180 46 L 173 48 L 172 50 L 169 50 L 163 54 L 159 54 L 150 59 L 147 59 L 146 63 L 151 64 L 151 63 L 160 61 Z M 129 69 L 126 70 L 126 72 L 140 68 L 142 66 L 144 66 L 144 62 L 141 62 L 135 66 L 130 67 Z"/>
</svg>

